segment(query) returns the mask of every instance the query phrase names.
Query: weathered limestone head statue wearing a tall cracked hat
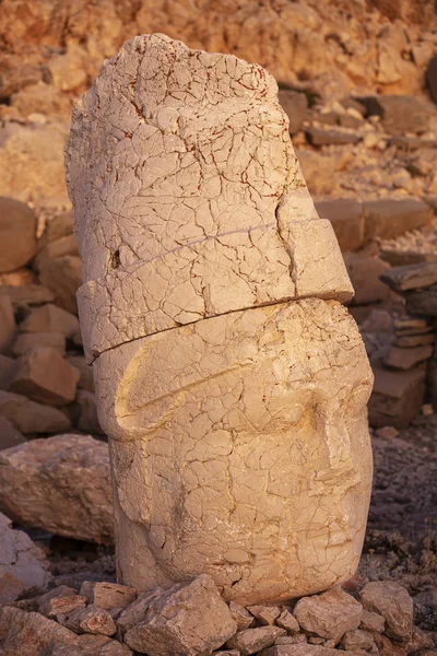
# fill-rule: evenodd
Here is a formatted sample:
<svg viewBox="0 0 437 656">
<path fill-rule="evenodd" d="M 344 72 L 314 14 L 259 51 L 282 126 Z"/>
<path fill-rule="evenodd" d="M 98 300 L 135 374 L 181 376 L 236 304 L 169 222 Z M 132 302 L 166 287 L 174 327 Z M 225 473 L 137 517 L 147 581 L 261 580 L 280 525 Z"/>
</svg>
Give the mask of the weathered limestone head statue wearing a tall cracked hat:
<svg viewBox="0 0 437 656">
<path fill-rule="evenodd" d="M 78 293 L 120 578 L 268 602 L 358 563 L 371 372 L 273 78 L 135 37 L 73 114 Z"/>
</svg>

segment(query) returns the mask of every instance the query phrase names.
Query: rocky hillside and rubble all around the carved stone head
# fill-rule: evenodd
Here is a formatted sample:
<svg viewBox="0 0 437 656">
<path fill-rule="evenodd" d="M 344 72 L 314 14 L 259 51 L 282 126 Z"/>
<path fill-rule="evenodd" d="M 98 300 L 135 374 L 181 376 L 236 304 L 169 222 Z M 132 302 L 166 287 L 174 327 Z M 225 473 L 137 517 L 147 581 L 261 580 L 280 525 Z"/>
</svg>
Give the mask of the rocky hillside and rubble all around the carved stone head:
<svg viewBox="0 0 437 656">
<path fill-rule="evenodd" d="M 203 577 L 153 598 L 115 585 L 63 147 L 102 61 L 146 32 L 275 75 L 356 290 L 376 476 L 358 575 L 328 601 L 246 610 Z M 436 654 L 436 162 L 433 0 L 0 0 L 1 654 Z"/>
</svg>

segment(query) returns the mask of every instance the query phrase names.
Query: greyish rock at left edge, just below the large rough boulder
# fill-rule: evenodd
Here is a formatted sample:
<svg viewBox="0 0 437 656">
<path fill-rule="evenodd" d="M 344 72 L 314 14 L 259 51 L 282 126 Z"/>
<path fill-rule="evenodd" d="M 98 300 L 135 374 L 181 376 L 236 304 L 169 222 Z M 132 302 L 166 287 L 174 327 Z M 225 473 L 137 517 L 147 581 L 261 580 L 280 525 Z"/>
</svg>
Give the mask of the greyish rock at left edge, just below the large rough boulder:
<svg viewBox="0 0 437 656">
<path fill-rule="evenodd" d="M 24 590 L 50 581 L 48 561 L 39 547 L 0 513 L 0 604 L 14 601 Z"/>
</svg>

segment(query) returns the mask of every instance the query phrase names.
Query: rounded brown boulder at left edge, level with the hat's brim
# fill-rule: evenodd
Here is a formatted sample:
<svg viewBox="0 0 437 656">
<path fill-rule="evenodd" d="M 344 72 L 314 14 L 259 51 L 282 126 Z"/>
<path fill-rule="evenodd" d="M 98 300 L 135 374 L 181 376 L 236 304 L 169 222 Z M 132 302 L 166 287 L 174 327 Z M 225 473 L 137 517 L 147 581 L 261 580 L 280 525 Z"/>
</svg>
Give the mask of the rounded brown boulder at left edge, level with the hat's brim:
<svg viewBox="0 0 437 656">
<path fill-rule="evenodd" d="M 36 253 L 33 210 L 13 198 L 0 198 L 0 273 L 27 265 Z"/>
</svg>

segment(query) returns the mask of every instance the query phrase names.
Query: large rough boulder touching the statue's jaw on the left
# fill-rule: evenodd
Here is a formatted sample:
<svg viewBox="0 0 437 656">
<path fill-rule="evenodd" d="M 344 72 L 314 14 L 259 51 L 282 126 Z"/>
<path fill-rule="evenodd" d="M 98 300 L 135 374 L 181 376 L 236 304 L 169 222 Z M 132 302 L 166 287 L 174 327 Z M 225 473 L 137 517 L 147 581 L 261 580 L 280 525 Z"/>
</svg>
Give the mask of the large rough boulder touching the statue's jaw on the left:
<svg viewBox="0 0 437 656">
<path fill-rule="evenodd" d="M 33 440 L 0 452 L 0 506 L 13 520 L 90 542 L 113 542 L 107 444 L 90 435 Z"/>
</svg>

